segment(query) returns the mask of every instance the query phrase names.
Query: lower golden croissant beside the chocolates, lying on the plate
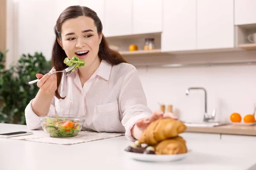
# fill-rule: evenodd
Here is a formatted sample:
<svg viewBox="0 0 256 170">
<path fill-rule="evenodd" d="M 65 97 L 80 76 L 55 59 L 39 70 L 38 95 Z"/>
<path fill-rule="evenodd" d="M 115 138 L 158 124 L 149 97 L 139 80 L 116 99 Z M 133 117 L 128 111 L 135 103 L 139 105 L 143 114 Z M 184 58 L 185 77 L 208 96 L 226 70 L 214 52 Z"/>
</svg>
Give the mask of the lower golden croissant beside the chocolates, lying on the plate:
<svg viewBox="0 0 256 170">
<path fill-rule="evenodd" d="M 154 148 L 157 155 L 172 155 L 187 152 L 186 141 L 180 136 L 166 139 L 158 143 Z"/>
</svg>

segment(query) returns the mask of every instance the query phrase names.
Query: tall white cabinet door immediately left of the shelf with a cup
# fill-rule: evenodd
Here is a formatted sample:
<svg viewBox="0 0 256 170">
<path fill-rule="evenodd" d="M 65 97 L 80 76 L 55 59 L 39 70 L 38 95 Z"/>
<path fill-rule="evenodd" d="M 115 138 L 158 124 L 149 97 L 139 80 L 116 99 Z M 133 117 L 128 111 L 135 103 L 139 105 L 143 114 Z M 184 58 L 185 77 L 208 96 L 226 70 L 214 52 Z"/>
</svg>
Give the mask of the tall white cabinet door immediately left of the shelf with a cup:
<svg viewBox="0 0 256 170">
<path fill-rule="evenodd" d="M 197 0 L 197 49 L 234 47 L 233 0 Z"/>
</svg>

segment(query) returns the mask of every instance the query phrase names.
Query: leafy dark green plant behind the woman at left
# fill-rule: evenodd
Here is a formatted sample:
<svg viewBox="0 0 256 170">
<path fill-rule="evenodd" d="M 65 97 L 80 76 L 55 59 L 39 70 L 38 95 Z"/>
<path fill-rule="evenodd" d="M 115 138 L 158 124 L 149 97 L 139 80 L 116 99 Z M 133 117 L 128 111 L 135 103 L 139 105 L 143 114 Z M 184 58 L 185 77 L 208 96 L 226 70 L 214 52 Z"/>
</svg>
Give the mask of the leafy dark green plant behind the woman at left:
<svg viewBox="0 0 256 170">
<path fill-rule="evenodd" d="M 37 73 L 49 72 L 51 61 L 47 61 L 42 53 L 23 54 L 6 70 L 5 54 L 0 51 L 0 123 L 26 125 L 26 105 L 38 92 L 36 83 L 29 85 L 28 82 L 37 79 Z"/>
</svg>

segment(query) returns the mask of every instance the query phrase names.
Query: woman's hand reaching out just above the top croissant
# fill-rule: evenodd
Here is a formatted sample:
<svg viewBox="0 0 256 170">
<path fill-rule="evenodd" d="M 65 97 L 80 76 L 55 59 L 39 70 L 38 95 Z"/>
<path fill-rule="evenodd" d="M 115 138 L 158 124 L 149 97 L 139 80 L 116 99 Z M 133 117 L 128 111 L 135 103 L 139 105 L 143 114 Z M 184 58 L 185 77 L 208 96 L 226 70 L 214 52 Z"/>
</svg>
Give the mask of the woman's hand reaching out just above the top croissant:
<svg viewBox="0 0 256 170">
<path fill-rule="evenodd" d="M 162 111 L 155 111 L 154 113 L 152 113 L 150 116 L 140 119 L 137 122 L 137 127 L 140 129 L 145 129 L 146 127 L 148 127 L 148 125 L 151 122 L 156 121 L 157 119 L 160 118 L 172 118 L 172 119 L 177 119 L 177 117 L 175 117 L 172 113 L 168 112 L 168 113 L 163 113 Z"/>
</svg>

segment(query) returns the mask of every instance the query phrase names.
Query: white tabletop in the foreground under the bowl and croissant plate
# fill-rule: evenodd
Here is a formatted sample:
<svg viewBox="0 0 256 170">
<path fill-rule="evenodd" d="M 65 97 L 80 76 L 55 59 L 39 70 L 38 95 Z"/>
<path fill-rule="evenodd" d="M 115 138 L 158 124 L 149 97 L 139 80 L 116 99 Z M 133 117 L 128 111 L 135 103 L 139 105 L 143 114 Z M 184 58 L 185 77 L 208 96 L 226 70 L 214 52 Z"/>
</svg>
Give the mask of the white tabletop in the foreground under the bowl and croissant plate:
<svg viewBox="0 0 256 170">
<path fill-rule="evenodd" d="M 28 129 L 0 124 L 0 133 L 22 130 Z M 185 140 L 192 150 L 186 159 L 153 163 L 123 155 L 131 143 L 125 136 L 73 145 L 0 139 L 0 170 L 248 170 L 256 164 L 255 142 Z"/>
</svg>

